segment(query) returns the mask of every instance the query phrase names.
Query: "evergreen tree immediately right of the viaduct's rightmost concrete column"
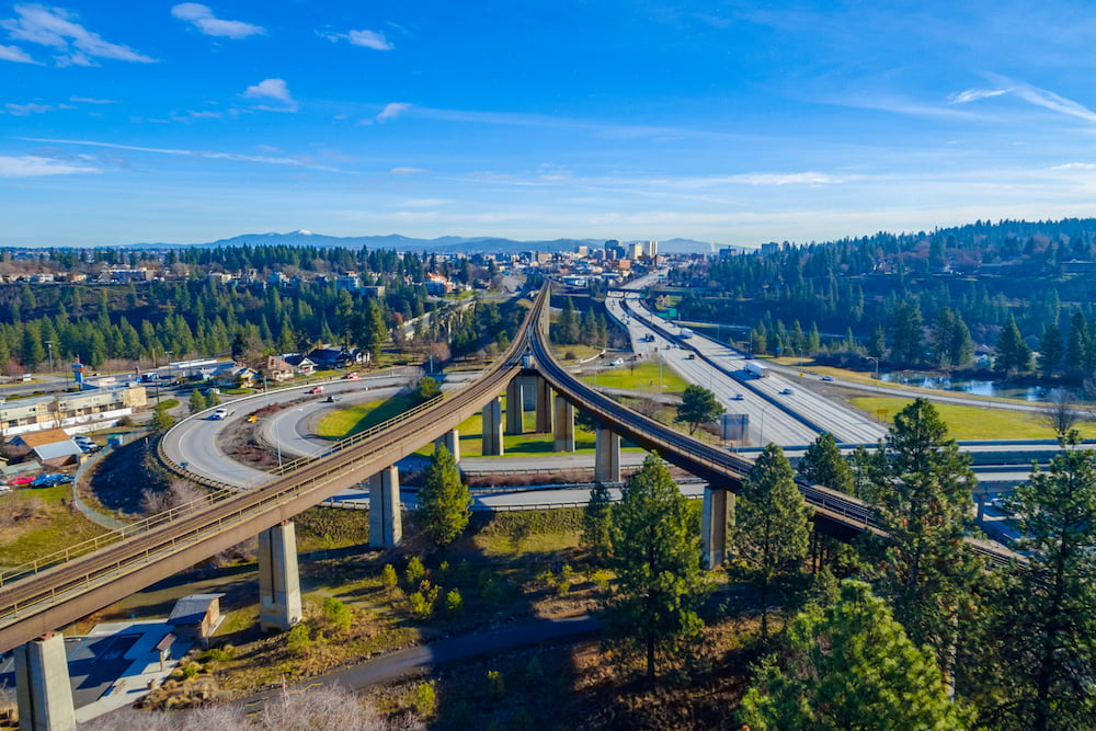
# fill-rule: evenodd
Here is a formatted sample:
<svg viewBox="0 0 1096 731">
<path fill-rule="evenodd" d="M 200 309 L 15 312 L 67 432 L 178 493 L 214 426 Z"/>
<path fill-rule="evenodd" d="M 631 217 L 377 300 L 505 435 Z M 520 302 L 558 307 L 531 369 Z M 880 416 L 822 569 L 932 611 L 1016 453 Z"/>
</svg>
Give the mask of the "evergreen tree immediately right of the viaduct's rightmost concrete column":
<svg viewBox="0 0 1096 731">
<path fill-rule="evenodd" d="M 737 558 L 757 584 L 767 637 L 770 590 L 799 573 L 810 540 L 810 513 L 779 445 L 769 444 L 754 461 L 738 494 L 735 533 Z"/>
</svg>

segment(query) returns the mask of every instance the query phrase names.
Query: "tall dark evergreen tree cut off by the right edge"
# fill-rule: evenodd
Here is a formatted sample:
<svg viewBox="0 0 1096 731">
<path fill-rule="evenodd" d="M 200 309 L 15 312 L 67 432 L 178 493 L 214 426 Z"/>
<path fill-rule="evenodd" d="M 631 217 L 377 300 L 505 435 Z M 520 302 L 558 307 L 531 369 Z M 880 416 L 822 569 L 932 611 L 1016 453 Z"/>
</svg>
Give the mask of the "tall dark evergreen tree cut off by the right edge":
<svg viewBox="0 0 1096 731">
<path fill-rule="evenodd" d="M 1018 486 L 1011 507 L 1023 526 L 996 606 L 1006 699 L 996 728 L 1096 724 L 1096 452 L 1076 431 L 1047 471 Z"/>
</svg>

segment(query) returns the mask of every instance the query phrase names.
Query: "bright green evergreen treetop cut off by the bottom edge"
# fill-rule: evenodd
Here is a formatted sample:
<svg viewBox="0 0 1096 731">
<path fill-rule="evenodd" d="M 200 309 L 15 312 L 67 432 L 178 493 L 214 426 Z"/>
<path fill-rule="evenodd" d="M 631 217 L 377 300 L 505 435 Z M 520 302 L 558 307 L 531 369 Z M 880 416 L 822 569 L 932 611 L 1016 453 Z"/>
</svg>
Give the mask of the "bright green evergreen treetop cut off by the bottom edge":
<svg viewBox="0 0 1096 731">
<path fill-rule="evenodd" d="M 931 653 L 917 649 L 868 584 L 800 614 L 781 663 L 769 659 L 742 700 L 751 729 L 954 731 L 968 713 L 948 700 Z"/>
</svg>

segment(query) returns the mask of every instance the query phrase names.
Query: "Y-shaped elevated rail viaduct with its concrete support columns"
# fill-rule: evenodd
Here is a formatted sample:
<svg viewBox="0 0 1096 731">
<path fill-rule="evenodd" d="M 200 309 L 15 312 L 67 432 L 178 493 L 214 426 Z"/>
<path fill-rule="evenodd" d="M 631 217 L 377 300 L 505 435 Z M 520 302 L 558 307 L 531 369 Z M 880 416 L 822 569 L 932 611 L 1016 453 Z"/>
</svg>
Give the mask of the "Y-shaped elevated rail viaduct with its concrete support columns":
<svg viewBox="0 0 1096 731">
<path fill-rule="evenodd" d="M 466 388 L 344 439 L 322 458 L 286 465 L 269 482 L 217 486 L 199 501 L 0 573 L 0 652 L 16 648 L 21 716 L 33 719 L 34 728 L 72 726 L 64 646 L 56 628 L 256 534 L 261 626 L 292 627 L 301 617 L 292 518 L 368 478 L 370 542 L 398 545 L 399 486 L 392 465 L 434 439 L 445 438 L 455 448 L 456 427 L 480 410 L 484 454 L 501 454 L 503 389 L 509 431 L 521 432 L 523 390 L 533 386 L 537 431 L 555 432 L 560 450 L 574 448 L 574 408 L 592 413 L 602 424 L 595 468 L 602 481 L 619 479 L 621 435 L 705 478 L 705 558 L 709 566 L 721 562 L 733 492 L 752 462 L 637 414 L 574 379 L 547 342 L 549 292 L 550 286 L 541 289 L 505 354 Z M 863 502 L 818 486 L 800 487 L 821 528 L 840 536 L 879 533 Z"/>
</svg>

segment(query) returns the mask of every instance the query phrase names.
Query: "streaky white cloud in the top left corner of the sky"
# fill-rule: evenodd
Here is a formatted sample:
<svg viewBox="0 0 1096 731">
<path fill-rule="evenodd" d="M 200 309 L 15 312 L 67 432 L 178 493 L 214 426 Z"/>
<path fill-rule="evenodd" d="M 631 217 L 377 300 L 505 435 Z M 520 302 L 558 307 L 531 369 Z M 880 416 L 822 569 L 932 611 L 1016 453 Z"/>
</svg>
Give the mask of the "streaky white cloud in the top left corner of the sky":
<svg viewBox="0 0 1096 731">
<path fill-rule="evenodd" d="M 76 22 L 77 15 L 64 8 L 44 5 L 15 5 L 19 18 L 0 21 L 0 27 L 8 30 L 13 41 L 25 41 L 55 48 L 58 66 L 94 66 L 92 57 L 110 58 L 118 61 L 155 64 L 129 46 L 104 41 Z"/>
</svg>

